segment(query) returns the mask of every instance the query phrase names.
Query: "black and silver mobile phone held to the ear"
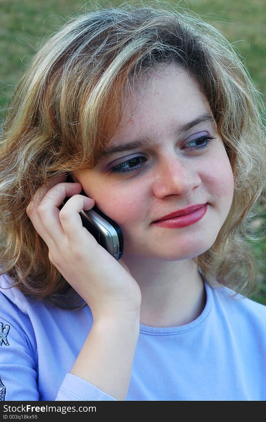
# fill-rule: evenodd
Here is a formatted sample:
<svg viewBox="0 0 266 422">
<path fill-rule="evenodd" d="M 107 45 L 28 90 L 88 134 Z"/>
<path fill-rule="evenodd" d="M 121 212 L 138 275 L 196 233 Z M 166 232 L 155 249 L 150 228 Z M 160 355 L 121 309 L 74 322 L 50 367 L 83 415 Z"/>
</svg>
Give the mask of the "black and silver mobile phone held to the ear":
<svg viewBox="0 0 266 422">
<path fill-rule="evenodd" d="M 67 174 L 66 182 L 74 182 L 70 174 Z M 80 195 L 89 198 L 83 189 L 80 192 Z M 61 209 L 68 200 L 69 197 L 66 197 L 59 209 Z M 79 214 L 83 227 L 93 235 L 99 245 L 106 249 L 106 251 L 117 261 L 120 260 L 123 254 L 123 235 L 119 225 L 96 206 L 88 211 L 81 210 Z"/>
</svg>

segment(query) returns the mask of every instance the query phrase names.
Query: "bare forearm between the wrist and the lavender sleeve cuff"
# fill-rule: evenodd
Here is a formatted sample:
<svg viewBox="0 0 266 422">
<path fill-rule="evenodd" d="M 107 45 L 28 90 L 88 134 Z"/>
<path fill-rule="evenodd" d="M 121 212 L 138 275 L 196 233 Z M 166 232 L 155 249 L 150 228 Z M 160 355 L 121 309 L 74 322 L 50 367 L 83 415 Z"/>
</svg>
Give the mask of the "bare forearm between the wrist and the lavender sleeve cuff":
<svg viewBox="0 0 266 422">
<path fill-rule="evenodd" d="M 132 320 L 96 320 L 70 373 L 125 400 L 138 335 L 139 313 Z"/>
</svg>

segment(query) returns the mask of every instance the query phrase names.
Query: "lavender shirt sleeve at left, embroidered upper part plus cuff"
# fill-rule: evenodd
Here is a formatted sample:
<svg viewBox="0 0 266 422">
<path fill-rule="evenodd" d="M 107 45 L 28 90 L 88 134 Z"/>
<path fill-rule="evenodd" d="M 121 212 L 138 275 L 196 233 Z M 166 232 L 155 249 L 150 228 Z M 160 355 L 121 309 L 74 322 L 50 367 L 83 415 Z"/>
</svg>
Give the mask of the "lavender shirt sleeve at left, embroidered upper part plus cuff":
<svg viewBox="0 0 266 422">
<path fill-rule="evenodd" d="M 0 286 L 0 401 L 39 401 L 37 344 L 27 300 L 16 288 L 7 289 L 4 275 Z M 54 400 L 116 399 L 67 373 Z"/>
</svg>

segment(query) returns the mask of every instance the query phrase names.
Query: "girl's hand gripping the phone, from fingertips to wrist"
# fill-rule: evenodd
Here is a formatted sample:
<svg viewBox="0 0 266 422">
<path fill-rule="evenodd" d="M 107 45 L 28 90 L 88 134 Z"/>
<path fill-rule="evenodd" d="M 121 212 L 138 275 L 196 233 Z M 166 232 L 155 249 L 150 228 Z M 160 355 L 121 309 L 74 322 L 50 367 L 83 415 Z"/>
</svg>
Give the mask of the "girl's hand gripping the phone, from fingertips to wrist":
<svg viewBox="0 0 266 422">
<path fill-rule="evenodd" d="M 48 246 L 49 260 L 88 303 L 93 319 L 106 315 L 136 318 L 141 306 L 136 280 L 125 263 L 121 265 L 82 226 L 80 211 L 90 210 L 95 201 L 78 195 L 79 182 L 65 180 L 61 175 L 43 184 L 26 209 Z M 59 211 L 66 197 L 70 198 Z"/>
</svg>

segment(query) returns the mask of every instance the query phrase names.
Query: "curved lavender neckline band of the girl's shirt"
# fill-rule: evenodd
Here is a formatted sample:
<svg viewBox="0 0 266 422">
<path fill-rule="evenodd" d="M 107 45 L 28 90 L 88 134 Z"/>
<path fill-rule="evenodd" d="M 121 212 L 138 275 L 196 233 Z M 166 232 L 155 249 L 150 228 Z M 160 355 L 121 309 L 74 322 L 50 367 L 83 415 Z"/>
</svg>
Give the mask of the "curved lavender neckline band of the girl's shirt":
<svg viewBox="0 0 266 422">
<path fill-rule="evenodd" d="M 202 277 L 202 281 L 206 292 L 205 308 L 203 309 L 199 317 L 194 319 L 194 321 L 189 322 L 189 324 L 180 325 L 178 327 L 149 327 L 148 325 L 140 324 L 140 333 L 149 335 L 181 334 L 186 333 L 187 331 L 194 330 L 205 321 L 213 305 L 213 291 L 212 287 L 208 284 L 204 274 L 202 274 L 200 270 L 198 271 Z"/>
</svg>

